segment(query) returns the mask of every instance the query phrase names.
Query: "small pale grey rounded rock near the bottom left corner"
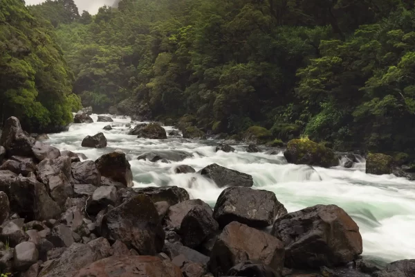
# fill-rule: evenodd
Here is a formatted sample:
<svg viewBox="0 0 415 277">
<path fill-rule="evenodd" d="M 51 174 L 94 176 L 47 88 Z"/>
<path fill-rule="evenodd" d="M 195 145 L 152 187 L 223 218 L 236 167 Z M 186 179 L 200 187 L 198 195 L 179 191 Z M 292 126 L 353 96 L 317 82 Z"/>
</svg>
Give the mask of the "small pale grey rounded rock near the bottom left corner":
<svg viewBox="0 0 415 277">
<path fill-rule="evenodd" d="M 39 258 L 39 252 L 33 242 L 21 242 L 16 245 L 13 251 L 15 268 L 19 271 L 25 271 L 31 265 L 35 264 L 37 258 Z"/>
</svg>

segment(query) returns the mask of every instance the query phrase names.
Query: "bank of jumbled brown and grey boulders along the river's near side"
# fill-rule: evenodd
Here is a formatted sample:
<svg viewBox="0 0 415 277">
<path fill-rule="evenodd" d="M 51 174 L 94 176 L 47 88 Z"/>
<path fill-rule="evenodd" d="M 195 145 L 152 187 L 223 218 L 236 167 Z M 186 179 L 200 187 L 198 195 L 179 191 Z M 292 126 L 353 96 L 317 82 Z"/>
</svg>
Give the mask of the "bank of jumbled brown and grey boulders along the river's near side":
<svg viewBox="0 0 415 277">
<path fill-rule="evenodd" d="M 145 132 L 152 136 L 160 130 Z M 131 166 L 123 152 L 81 161 L 78 154 L 31 139 L 17 118 L 7 120 L 0 145 L 2 273 L 415 274 L 415 260 L 382 269 L 362 258 L 359 227 L 342 208 L 317 205 L 287 213 L 275 193 L 251 188 L 252 177 L 237 170 L 215 164 L 201 170 L 205 178 L 227 187 L 210 207 L 177 186 L 131 188 Z M 181 171 L 192 168 L 183 166 L 177 173 Z"/>
</svg>

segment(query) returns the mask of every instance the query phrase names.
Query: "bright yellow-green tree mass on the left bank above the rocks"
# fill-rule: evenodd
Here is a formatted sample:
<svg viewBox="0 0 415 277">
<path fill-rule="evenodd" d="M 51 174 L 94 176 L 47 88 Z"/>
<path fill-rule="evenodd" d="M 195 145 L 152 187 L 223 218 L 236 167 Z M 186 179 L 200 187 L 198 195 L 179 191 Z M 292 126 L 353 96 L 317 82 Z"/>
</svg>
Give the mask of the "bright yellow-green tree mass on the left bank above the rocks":
<svg viewBox="0 0 415 277">
<path fill-rule="evenodd" d="M 80 99 L 52 26 L 21 0 L 0 1 L 0 115 L 28 130 L 57 131 L 72 121 Z"/>
</svg>

